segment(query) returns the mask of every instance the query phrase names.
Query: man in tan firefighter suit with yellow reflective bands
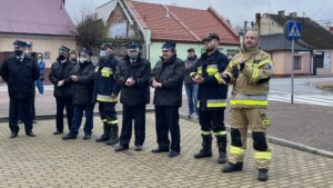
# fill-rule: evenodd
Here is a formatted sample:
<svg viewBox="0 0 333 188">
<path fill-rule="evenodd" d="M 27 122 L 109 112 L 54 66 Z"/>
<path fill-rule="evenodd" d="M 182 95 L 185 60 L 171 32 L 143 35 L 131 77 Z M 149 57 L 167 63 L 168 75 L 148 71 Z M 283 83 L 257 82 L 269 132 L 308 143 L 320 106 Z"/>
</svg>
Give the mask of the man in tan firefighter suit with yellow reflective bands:
<svg viewBox="0 0 333 188">
<path fill-rule="evenodd" d="M 271 150 L 266 141 L 269 81 L 273 62 L 270 55 L 259 49 L 259 32 L 245 34 L 245 47 L 235 55 L 221 75 L 223 82 L 233 85 L 231 97 L 231 147 L 223 172 L 243 169 L 248 129 L 252 131 L 258 179 L 268 180 Z"/>
</svg>

